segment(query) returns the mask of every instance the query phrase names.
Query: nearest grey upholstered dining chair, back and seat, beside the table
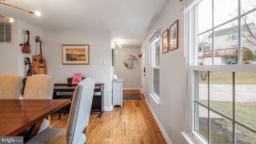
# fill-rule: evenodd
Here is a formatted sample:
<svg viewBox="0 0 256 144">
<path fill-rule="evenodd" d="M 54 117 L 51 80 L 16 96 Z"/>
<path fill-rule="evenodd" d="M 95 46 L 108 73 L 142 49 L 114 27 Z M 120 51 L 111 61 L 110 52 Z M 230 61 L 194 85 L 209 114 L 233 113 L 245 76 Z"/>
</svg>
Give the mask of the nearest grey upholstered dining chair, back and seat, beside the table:
<svg viewBox="0 0 256 144">
<path fill-rule="evenodd" d="M 95 80 L 86 78 L 77 86 L 73 94 L 68 116 L 67 129 L 46 128 L 26 144 L 84 144 L 85 128 L 88 125 Z"/>
</svg>

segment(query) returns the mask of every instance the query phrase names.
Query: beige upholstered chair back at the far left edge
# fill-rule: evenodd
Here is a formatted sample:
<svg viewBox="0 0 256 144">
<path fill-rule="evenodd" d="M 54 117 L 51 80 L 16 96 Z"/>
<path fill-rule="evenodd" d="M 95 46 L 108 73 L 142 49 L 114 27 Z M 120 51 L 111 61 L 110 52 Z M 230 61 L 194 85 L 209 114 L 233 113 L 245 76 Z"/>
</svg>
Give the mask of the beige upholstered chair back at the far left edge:
<svg viewBox="0 0 256 144">
<path fill-rule="evenodd" d="M 22 77 L 13 74 L 0 76 L 0 99 L 19 99 Z"/>
</svg>

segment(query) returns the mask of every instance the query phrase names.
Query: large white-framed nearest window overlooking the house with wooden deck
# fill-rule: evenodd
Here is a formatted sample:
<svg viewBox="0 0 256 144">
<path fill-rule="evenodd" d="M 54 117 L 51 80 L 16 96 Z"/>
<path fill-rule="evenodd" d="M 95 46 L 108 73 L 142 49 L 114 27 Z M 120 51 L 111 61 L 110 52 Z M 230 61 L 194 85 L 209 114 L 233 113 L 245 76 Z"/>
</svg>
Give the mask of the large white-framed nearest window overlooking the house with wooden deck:
<svg viewBox="0 0 256 144">
<path fill-rule="evenodd" d="M 255 22 L 255 0 L 198 0 L 186 11 L 190 134 L 199 143 L 256 142 Z"/>
</svg>

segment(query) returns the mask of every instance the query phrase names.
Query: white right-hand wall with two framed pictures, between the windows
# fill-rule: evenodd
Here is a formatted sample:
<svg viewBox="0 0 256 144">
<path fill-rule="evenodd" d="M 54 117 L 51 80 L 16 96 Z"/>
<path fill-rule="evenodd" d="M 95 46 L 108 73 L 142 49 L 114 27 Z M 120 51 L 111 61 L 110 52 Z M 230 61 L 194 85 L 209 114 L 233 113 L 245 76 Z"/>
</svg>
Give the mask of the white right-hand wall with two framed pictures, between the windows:
<svg viewBox="0 0 256 144">
<path fill-rule="evenodd" d="M 162 54 L 162 33 L 178 22 L 178 49 Z M 148 38 L 154 29 L 160 28 L 160 105 L 150 96 L 152 72 Z M 186 144 L 180 134 L 186 131 L 186 57 L 184 57 L 184 14 L 178 0 L 170 0 L 156 24 L 144 40 L 146 45 L 146 102 L 155 116 L 166 140 L 173 144 Z"/>
</svg>

